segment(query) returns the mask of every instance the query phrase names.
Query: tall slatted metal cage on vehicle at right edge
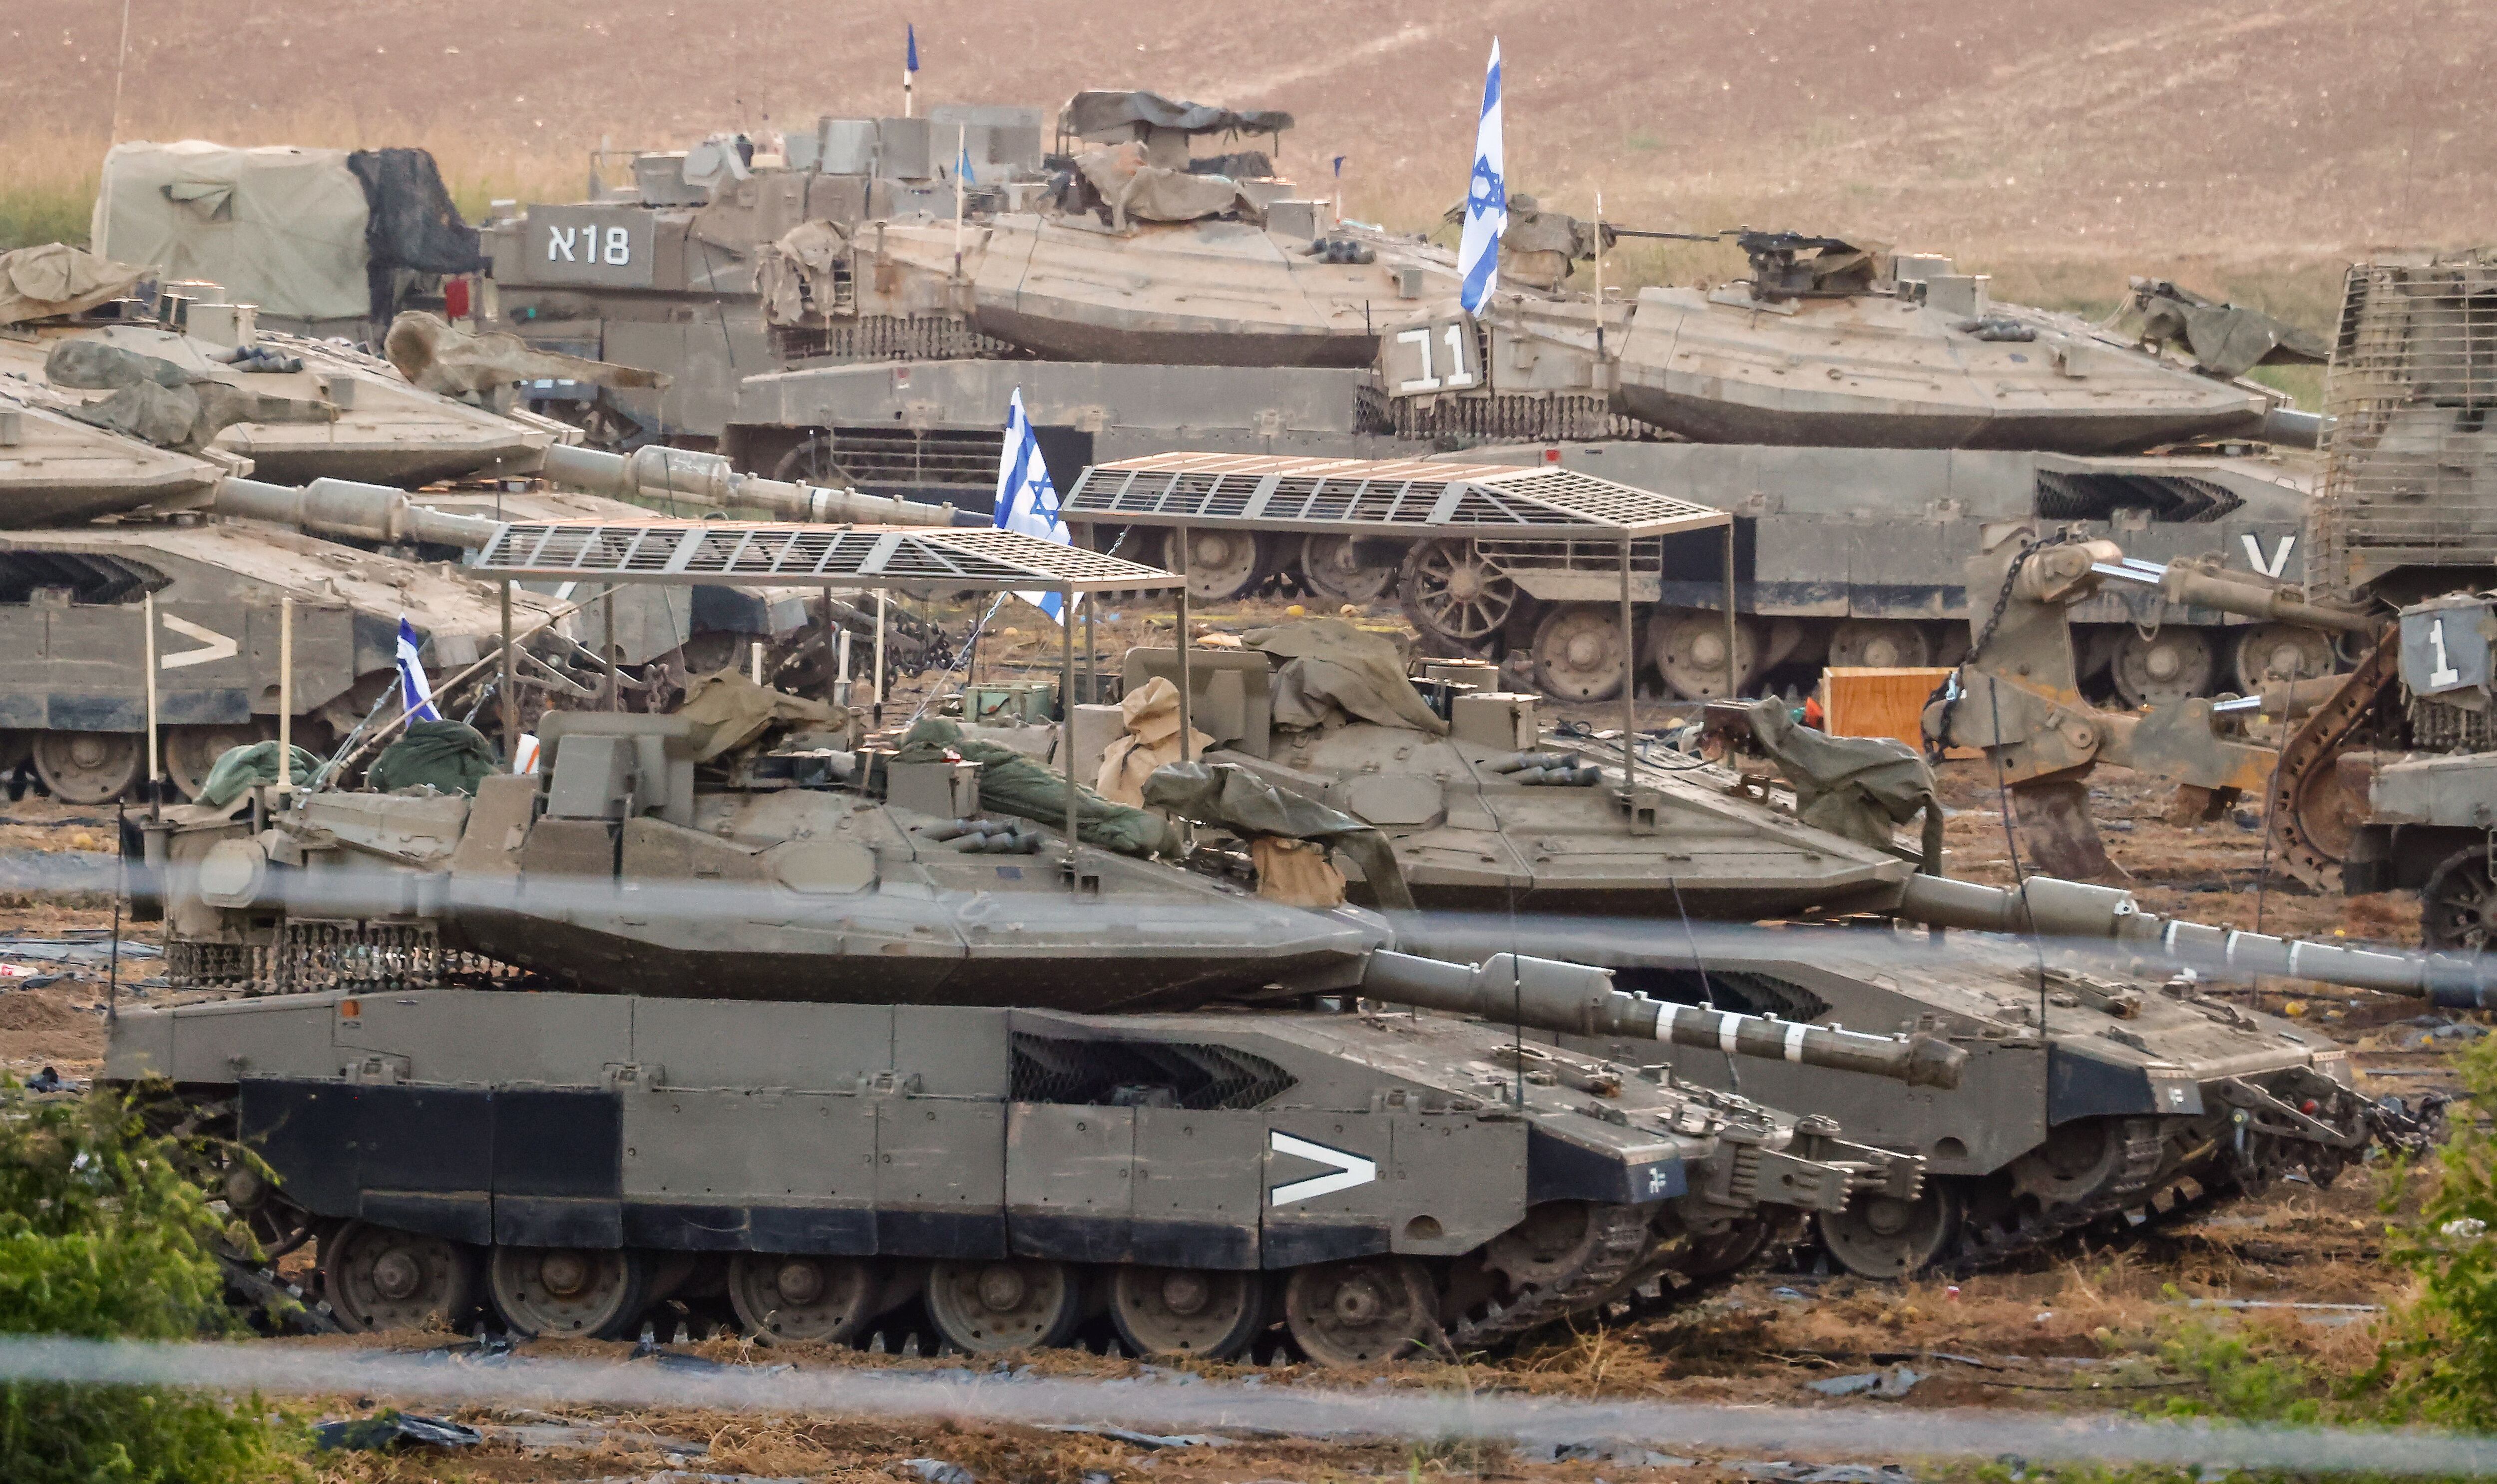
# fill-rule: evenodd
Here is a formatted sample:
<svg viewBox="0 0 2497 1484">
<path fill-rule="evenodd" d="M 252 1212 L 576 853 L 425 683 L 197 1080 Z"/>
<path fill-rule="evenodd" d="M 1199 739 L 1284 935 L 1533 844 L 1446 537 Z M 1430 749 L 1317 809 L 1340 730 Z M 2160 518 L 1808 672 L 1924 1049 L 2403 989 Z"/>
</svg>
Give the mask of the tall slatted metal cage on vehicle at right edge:
<svg viewBox="0 0 2497 1484">
<path fill-rule="evenodd" d="M 2317 587 L 2365 597 L 2405 567 L 2497 567 L 2492 405 L 2497 262 L 2350 267 L 2325 385 Z"/>
</svg>

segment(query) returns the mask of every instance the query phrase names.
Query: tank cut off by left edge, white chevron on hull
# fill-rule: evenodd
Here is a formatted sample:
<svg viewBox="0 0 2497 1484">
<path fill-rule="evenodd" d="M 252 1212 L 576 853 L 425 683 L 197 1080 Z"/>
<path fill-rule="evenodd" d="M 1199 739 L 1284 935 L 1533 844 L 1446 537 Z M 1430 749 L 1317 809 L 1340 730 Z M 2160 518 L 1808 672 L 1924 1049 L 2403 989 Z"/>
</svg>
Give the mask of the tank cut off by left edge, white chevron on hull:
<svg viewBox="0 0 2497 1484">
<path fill-rule="evenodd" d="M 187 794 L 232 744 L 275 735 L 280 620 L 295 612 L 295 737 L 325 747 L 397 680 L 405 615 L 434 667 L 474 662 L 499 635 L 499 592 L 454 567 L 217 520 L 255 485 L 222 450 L 155 447 L 80 422 L 82 402 L 0 390 L 0 697 L 7 752 L 62 802 L 107 804 L 145 772 L 155 655 L 165 774 Z M 410 520 L 400 490 L 402 535 Z M 387 512 L 365 512 L 385 527 Z M 474 540 L 459 522 L 434 535 Z M 432 527 L 427 527 L 432 530 Z M 537 595 L 514 617 L 539 625 Z M 150 615 L 155 630 L 150 632 Z"/>
</svg>

